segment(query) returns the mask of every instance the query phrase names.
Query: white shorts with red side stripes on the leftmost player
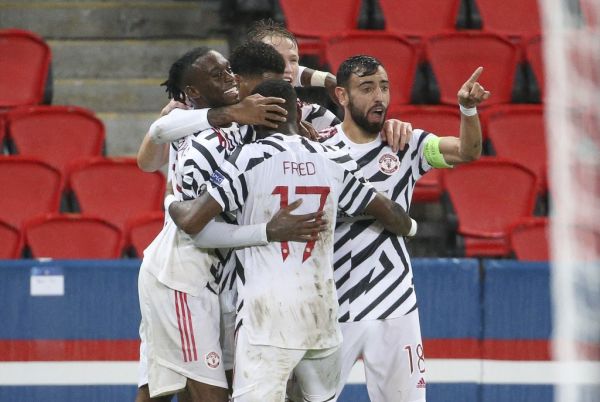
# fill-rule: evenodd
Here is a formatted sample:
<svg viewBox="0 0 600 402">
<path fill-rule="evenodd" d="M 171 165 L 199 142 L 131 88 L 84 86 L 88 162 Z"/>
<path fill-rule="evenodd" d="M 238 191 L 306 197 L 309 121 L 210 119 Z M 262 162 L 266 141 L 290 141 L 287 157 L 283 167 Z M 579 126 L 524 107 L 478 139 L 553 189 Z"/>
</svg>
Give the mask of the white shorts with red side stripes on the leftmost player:
<svg viewBox="0 0 600 402">
<path fill-rule="evenodd" d="M 138 292 L 150 396 L 178 392 L 188 378 L 227 388 L 218 296 L 208 288 L 198 297 L 176 291 L 143 267 Z"/>
</svg>

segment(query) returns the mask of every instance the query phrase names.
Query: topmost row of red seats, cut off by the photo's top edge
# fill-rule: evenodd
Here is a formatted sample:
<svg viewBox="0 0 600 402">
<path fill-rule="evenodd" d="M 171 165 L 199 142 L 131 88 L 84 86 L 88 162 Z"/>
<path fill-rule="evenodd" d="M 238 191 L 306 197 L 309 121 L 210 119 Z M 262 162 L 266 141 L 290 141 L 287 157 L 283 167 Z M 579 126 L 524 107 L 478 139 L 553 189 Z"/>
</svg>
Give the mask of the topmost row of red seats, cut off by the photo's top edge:
<svg viewBox="0 0 600 402">
<path fill-rule="evenodd" d="M 512 36 L 537 35 L 541 31 L 537 0 L 473 1 L 485 31 Z M 461 0 L 378 2 L 385 18 L 385 30 L 413 37 L 456 29 L 461 8 Z M 325 3 L 321 0 L 279 0 L 288 29 L 301 40 L 356 29 L 361 3 L 362 0 L 330 0 L 326 3 L 327 9 L 324 10 Z M 472 4 L 469 6 L 473 8 Z"/>
</svg>

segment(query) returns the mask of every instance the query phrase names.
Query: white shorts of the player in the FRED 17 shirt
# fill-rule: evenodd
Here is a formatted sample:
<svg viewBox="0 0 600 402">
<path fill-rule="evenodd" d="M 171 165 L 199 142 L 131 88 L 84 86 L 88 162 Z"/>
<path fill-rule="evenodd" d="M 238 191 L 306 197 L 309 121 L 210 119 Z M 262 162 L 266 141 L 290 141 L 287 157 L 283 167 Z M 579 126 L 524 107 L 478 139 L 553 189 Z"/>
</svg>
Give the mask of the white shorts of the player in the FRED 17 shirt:
<svg viewBox="0 0 600 402">
<path fill-rule="evenodd" d="M 339 382 L 339 351 L 251 345 L 242 326 L 236 338 L 233 400 L 284 402 L 292 371 L 306 401 L 332 400 Z"/>
</svg>

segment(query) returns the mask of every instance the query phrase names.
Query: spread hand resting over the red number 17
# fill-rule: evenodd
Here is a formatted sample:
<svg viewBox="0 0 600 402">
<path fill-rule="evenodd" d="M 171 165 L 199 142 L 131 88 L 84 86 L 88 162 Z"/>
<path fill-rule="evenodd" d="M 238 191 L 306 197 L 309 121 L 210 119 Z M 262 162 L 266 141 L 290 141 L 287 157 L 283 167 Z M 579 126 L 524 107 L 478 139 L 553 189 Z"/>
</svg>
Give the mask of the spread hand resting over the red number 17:
<svg viewBox="0 0 600 402">
<path fill-rule="evenodd" d="M 327 229 L 323 211 L 304 215 L 292 215 L 291 212 L 302 204 L 302 199 L 281 208 L 267 223 L 269 241 L 315 241 L 319 232 Z"/>
</svg>

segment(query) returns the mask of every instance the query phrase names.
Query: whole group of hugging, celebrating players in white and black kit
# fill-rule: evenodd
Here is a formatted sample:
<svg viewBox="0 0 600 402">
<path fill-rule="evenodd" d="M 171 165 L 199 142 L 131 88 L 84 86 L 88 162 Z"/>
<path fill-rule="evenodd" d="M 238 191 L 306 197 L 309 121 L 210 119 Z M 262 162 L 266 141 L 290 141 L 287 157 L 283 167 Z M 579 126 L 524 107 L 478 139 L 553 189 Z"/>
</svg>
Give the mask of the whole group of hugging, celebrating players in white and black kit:
<svg viewBox="0 0 600 402">
<path fill-rule="evenodd" d="M 459 136 L 438 137 L 386 120 L 377 59 L 336 76 L 298 60 L 260 21 L 229 60 L 197 48 L 169 71 L 138 153 L 168 163 L 170 194 L 139 274 L 136 401 L 334 401 L 359 358 L 372 401 L 425 401 L 407 211 L 427 171 L 480 156 L 482 68 L 458 91 Z M 326 87 L 343 121 L 298 86 Z"/>
</svg>

